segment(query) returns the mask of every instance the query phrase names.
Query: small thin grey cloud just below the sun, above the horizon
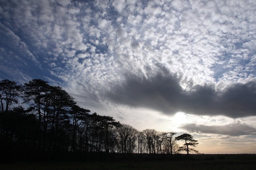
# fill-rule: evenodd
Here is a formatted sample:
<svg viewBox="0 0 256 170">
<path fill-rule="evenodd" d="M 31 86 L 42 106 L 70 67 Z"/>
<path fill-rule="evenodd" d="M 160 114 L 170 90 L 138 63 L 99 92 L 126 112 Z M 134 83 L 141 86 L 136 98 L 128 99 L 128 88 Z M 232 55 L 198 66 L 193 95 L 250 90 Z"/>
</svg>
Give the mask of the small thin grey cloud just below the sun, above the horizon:
<svg viewBox="0 0 256 170">
<path fill-rule="evenodd" d="M 208 126 L 203 124 L 186 124 L 182 127 L 191 133 L 221 134 L 228 136 L 256 135 L 256 129 L 249 125 L 235 122 L 223 126 Z"/>
</svg>

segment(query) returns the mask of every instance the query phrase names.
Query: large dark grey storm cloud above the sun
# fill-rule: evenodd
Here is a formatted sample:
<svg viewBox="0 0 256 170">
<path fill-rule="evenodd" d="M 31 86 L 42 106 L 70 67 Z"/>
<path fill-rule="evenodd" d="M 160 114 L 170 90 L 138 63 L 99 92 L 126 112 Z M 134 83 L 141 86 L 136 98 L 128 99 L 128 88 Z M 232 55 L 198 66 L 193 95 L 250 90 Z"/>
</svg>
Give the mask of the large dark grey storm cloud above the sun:
<svg viewBox="0 0 256 170">
<path fill-rule="evenodd" d="M 133 107 L 150 108 L 165 114 L 178 111 L 196 115 L 224 115 L 231 118 L 256 115 L 256 82 L 234 84 L 222 91 L 213 86 L 196 85 L 186 91 L 175 74 L 161 69 L 154 75 L 139 77 L 126 74 L 122 85 L 116 85 L 107 97 Z"/>
</svg>

